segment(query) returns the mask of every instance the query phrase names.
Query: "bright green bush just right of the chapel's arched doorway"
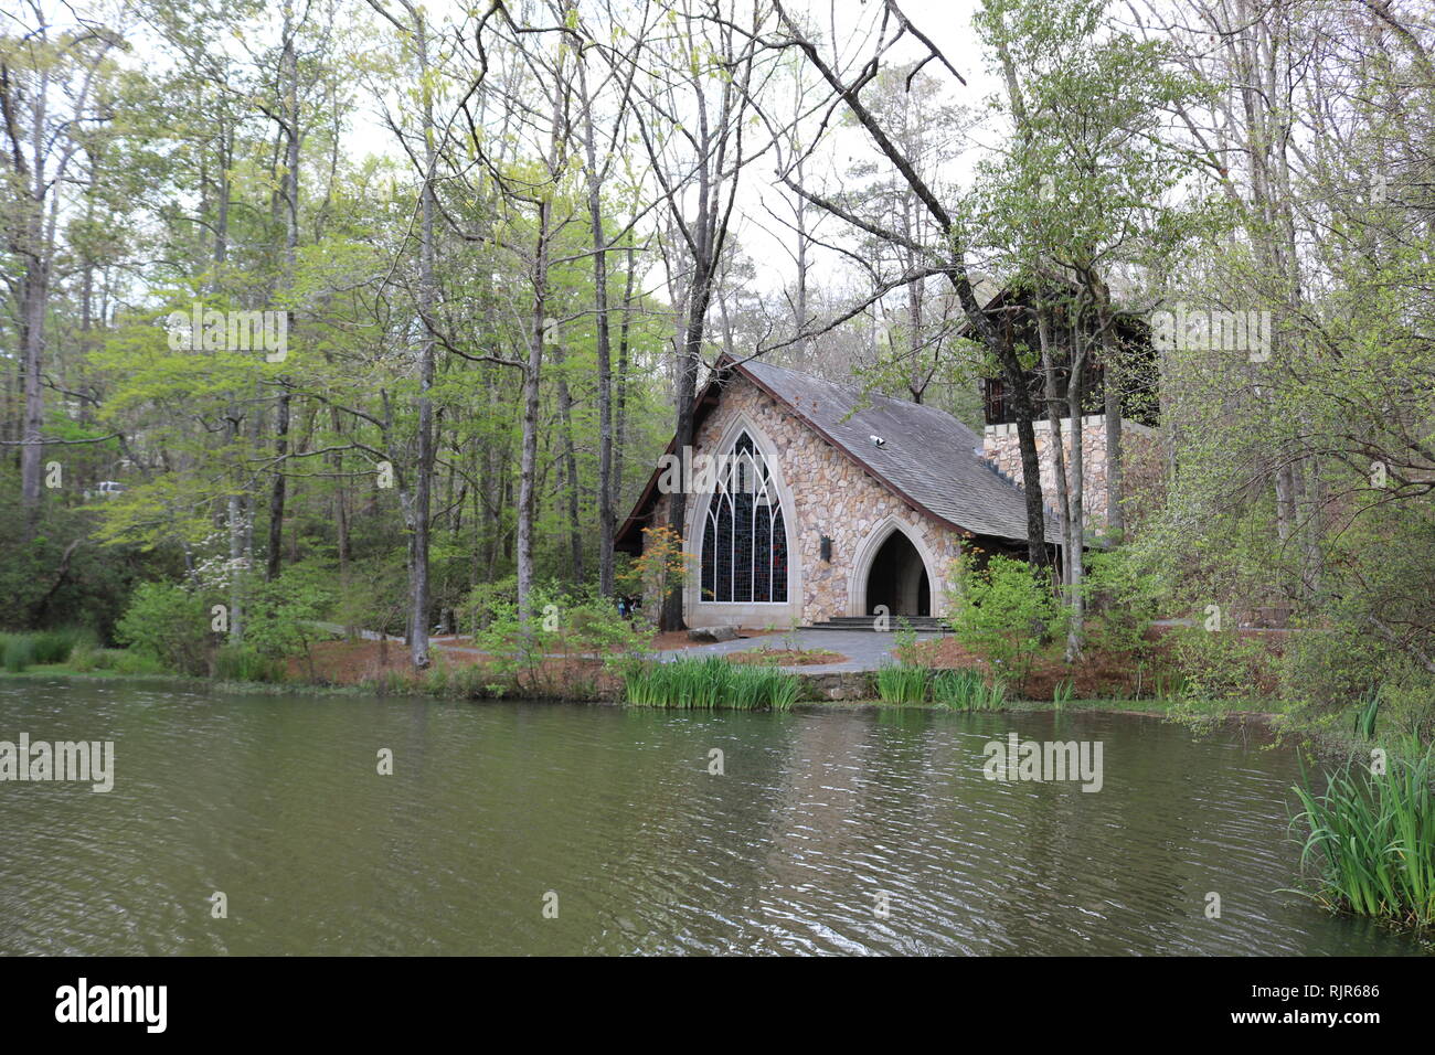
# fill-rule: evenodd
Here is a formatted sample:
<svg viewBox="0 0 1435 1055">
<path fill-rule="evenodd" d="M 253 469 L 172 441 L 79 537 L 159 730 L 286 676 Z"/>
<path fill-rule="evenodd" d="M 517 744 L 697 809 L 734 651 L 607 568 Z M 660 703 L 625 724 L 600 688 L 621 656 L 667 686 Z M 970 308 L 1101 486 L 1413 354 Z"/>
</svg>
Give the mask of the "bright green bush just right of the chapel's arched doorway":
<svg viewBox="0 0 1435 1055">
<path fill-rule="evenodd" d="M 1026 561 L 993 554 L 980 566 L 963 554 L 957 566 L 951 629 L 963 646 L 1020 686 L 1045 644 L 1065 633 L 1068 611 Z"/>
</svg>

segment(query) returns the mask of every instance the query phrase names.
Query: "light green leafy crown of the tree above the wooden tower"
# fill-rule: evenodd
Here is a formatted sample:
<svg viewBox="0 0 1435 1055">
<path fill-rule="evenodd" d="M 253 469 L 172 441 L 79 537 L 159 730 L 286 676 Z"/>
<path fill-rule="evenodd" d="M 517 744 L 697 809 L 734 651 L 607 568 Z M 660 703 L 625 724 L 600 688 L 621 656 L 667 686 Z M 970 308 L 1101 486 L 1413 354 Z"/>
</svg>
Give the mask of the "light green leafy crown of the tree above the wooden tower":
<svg viewBox="0 0 1435 1055">
<path fill-rule="evenodd" d="M 984 0 L 973 20 L 989 55 L 1010 62 L 993 106 L 1016 135 L 977 165 L 961 222 L 1003 271 L 1151 264 L 1211 224 L 1203 187 L 1178 192 L 1198 162 L 1162 118 L 1198 105 L 1205 86 L 1161 43 L 1112 26 L 1105 7 Z"/>
</svg>

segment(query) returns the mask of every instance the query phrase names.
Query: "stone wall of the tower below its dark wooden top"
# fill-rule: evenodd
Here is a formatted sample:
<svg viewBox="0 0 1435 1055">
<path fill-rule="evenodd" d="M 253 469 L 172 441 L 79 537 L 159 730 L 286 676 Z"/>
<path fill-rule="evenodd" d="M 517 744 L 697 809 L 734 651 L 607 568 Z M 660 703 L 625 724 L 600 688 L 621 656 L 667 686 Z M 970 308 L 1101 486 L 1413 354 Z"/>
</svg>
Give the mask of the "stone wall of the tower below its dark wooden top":
<svg viewBox="0 0 1435 1055">
<path fill-rule="evenodd" d="M 1056 461 L 1053 458 L 1055 444 L 1052 442 L 1052 423 L 1039 421 L 1033 423 L 1036 432 L 1036 454 L 1042 465 L 1042 498 L 1049 508 L 1056 508 Z M 1081 419 L 1082 436 L 1082 520 L 1086 527 L 1101 528 L 1106 525 L 1106 415 L 1093 413 Z M 982 449 L 993 465 L 996 465 L 1013 484 L 1022 484 L 1022 448 L 1016 436 L 1016 425 L 987 425 Z M 1072 462 L 1072 432 L 1071 422 L 1062 422 L 1062 451 L 1068 479 L 1071 479 Z M 1157 433 L 1154 429 L 1139 422 L 1121 422 L 1121 464 L 1124 477 L 1131 475 L 1139 465 L 1149 461 L 1157 452 Z"/>
</svg>

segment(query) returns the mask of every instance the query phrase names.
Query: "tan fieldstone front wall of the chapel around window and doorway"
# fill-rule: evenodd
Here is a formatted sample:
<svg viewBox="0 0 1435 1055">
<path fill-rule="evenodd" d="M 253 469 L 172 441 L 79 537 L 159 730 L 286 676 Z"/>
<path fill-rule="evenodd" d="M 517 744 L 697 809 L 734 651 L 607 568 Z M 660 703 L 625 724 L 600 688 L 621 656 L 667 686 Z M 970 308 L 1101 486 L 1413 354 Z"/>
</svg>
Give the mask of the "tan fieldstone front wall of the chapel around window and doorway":
<svg viewBox="0 0 1435 1055">
<path fill-rule="evenodd" d="M 862 468 L 779 406 L 746 378 L 735 378 L 720 405 L 695 438 L 695 454 L 723 454 L 723 444 L 738 435 L 739 421 L 753 435 L 778 481 L 788 528 L 788 604 L 718 604 L 699 596 L 696 557 L 702 538 L 692 530 L 702 524 L 706 495 L 690 495 L 684 548 L 695 557 L 686 596 L 689 626 L 791 626 L 834 616 L 864 614 L 865 597 L 851 596 L 858 558 L 875 554 L 878 528 L 891 521 L 905 528 L 927 564 L 933 614 L 946 611 L 947 576 L 960 555 L 954 528 L 911 510 Z M 659 501 L 666 517 L 666 500 Z M 832 540 L 832 560 L 821 557 L 822 535 Z M 651 601 L 644 601 L 651 604 Z"/>
</svg>

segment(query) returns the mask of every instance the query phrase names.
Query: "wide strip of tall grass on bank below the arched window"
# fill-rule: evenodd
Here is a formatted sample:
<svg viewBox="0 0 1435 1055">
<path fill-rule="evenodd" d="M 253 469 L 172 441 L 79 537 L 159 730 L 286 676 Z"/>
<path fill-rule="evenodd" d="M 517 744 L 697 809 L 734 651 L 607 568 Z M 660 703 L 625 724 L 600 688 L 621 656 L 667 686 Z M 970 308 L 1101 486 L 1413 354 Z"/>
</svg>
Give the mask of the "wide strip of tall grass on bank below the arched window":
<svg viewBox="0 0 1435 1055">
<path fill-rule="evenodd" d="M 634 665 L 623 675 L 626 700 L 640 708 L 791 711 L 798 689 L 795 675 L 729 663 L 722 656 Z"/>
</svg>

